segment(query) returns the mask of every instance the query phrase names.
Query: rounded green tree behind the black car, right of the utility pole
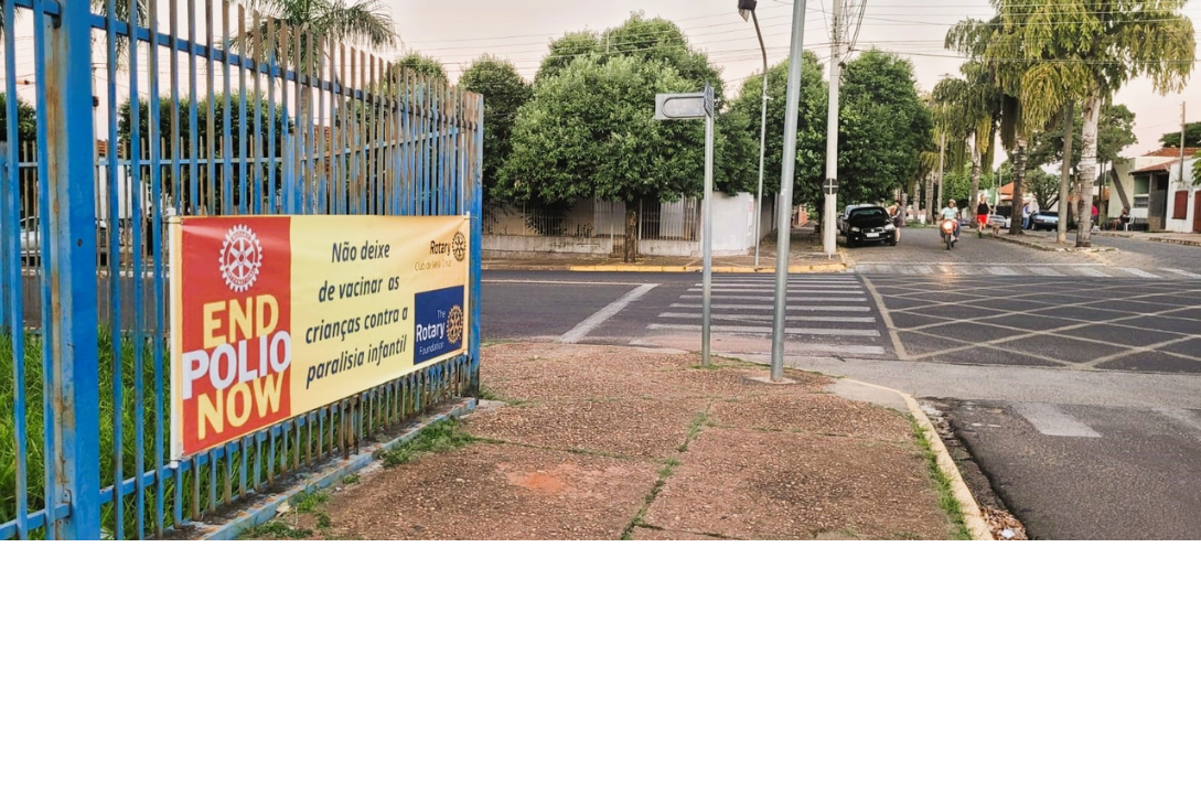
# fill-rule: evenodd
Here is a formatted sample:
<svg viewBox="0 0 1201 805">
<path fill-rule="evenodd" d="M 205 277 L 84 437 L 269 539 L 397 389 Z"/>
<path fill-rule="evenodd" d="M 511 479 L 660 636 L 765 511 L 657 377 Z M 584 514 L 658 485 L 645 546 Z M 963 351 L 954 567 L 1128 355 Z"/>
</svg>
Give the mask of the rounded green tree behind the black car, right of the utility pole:
<svg viewBox="0 0 1201 805">
<path fill-rule="evenodd" d="M 890 198 L 918 171 L 933 120 L 918 96 L 913 64 L 868 50 L 843 72 L 838 175 L 853 201 Z"/>
</svg>

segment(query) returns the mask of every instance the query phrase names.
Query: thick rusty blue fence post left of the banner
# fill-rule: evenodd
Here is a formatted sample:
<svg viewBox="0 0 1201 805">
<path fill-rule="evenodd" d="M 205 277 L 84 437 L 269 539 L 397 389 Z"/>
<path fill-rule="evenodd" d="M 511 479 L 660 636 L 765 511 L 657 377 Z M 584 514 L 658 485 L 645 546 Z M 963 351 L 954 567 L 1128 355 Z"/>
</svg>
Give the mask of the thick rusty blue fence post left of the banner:
<svg viewBox="0 0 1201 805">
<path fill-rule="evenodd" d="M 53 203 L 46 229 L 49 261 L 49 334 L 54 374 L 48 380 L 54 411 L 54 454 L 47 473 L 71 514 L 55 521 L 50 539 L 100 539 L 100 365 L 96 310 L 96 178 L 91 130 L 91 11 L 86 2 L 60 2 L 59 24 L 47 17 L 47 175 Z M 115 144 L 110 144 L 110 148 Z M 44 254 L 44 252 L 43 252 Z M 47 428 L 52 427 L 47 423 Z"/>
</svg>

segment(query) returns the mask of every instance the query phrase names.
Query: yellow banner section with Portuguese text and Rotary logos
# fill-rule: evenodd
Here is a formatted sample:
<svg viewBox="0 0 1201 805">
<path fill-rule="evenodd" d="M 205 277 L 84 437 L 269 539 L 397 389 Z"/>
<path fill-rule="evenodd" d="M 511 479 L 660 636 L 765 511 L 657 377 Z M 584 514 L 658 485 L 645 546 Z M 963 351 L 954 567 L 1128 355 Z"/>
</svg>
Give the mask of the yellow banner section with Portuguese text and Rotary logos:
<svg viewBox="0 0 1201 805">
<path fill-rule="evenodd" d="M 467 217 L 293 219 L 293 410 L 466 352 L 470 233 Z"/>
</svg>

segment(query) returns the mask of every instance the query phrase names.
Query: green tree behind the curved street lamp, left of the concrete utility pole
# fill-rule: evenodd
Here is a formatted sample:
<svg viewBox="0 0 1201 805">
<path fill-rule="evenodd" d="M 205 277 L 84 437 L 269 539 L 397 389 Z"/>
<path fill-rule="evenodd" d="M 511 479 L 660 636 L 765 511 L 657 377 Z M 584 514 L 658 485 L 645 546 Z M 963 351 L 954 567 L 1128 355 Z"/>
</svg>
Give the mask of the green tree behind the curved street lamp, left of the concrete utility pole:
<svg viewBox="0 0 1201 805">
<path fill-rule="evenodd" d="M 784 115 L 788 99 L 788 62 L 781 62 L 767 71 L 767 145 L 764 167 L 764 193 L 778 193 L 781 167 L 784 160 Z M 821 180 L 825 178 L 825 135 L 827 85 L 821 77 L 821 64 L 812 53 L 806 53 L 801 65 L 801 106 L 797 113 L 796 179 L 793 193 L 797 204 L 818 204 L 823 199 Z M 742 83 L 742 90 L 730 103 L 731 113 L 740 118 L 728 118 L 723 130 L 730 130 L 742 121 L 743 133 L 751 141 L 751 171 L 753 186 L 758 186 L 759 127 L 763 107 L 763 76 L 755 74 Z"/>
</svg>

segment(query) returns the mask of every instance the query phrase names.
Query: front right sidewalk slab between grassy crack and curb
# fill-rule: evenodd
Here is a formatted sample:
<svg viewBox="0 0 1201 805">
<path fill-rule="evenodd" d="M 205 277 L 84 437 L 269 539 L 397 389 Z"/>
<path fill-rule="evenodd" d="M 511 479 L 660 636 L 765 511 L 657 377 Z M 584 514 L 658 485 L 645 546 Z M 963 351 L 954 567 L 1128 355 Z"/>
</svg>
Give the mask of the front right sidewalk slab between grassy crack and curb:
<svg viewBox="0 0 1201 805">
<path fill-rule="evenodd" d="M 910 445 L 706 430 L 646 525 L 742 539 L 946 539 L 950 524 Z"/>
</svg>

